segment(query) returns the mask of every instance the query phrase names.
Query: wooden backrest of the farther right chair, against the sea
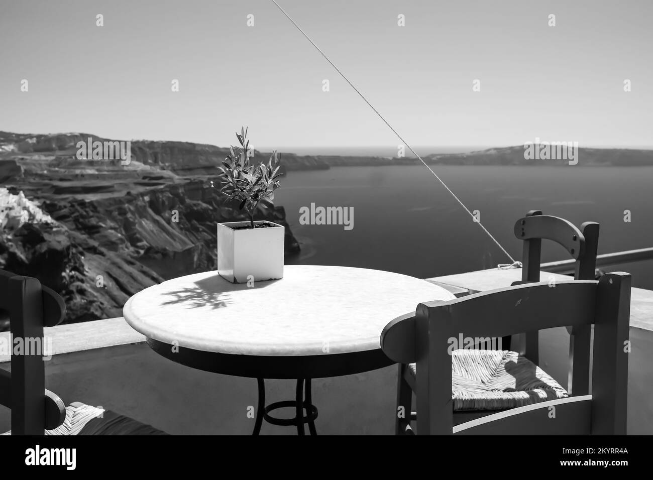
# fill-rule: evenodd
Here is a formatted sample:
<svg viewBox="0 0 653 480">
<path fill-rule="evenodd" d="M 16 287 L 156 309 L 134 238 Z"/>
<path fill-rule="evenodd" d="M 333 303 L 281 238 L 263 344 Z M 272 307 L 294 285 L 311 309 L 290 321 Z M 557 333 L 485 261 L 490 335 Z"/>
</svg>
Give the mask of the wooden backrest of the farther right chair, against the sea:
<svg viewBox="0 0 653 480">
<path fill-rule="evenodd" d="M 522 280 L 520 283 L 537 283 L 540 281 L 540 257 L 542 239 L 552 240 L 562 245 L 571 257 L 576 259 L 574 280 L 594 280 L 596 271 L 596 253 L 599 244 L 599 224 L 586 221 L 577 229 L 573 223 L 564 218 L 543 215 L 541 210 L 531 210 L 515 222 L 515 236 L 524 240 L 522 254 Z M 586 395 L 589 389 L 590 338 L 592 330 L 587 325 L 569 330 L 569 378 L 567 391 Z M 509 338 L 503 339 L 504 345 L 510 345 Z M 539 363 L 539 335 L 531 330 L 520 335 L 518 350 L 535 364 Z"/>
</svg>

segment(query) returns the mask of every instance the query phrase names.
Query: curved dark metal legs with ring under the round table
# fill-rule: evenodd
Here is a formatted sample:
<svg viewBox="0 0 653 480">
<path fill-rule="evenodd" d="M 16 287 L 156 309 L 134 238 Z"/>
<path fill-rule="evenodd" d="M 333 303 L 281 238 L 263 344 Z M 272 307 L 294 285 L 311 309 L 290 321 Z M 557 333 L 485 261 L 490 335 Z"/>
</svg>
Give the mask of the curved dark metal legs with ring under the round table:
<svg viewBox="0 0 653 480">
<path fill-rule="evenodd" d="M 311 404 L 311 379 L 297 379 L 297 389 L 295 400 L 286 400 L 284 402 L 274 402 L 268 406 L 265 405 L 265 381 L 263 378 L 257 378 L 259 385 L 259 405 L 256 409 L 256 420 L 252 435 L 261 433 L 263 420 L 273 425 L 297 426 L 297 434 L 304 435 L 304 423 L 308 423 L 308 430 L 311 435 L 317 435 L 315 430 L 315 419 L 317 419 L 317 408 Z M 295 417 L 291 419 L 279 419 L 272 417 L 270 412 L 278 408 L 295 408 Z M 306 409 L 306 415 L 304 415 Z"/>
</svg>

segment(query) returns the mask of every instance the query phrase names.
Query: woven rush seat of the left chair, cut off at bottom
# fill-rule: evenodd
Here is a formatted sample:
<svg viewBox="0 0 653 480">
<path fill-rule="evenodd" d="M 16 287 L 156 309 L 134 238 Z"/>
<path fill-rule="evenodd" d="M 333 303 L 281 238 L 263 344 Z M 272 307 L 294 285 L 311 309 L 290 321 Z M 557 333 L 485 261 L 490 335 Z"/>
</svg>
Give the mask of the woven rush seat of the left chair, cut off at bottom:
<svg viewBox="0 0 653 480">
<path fill-rule="evenodd" d="M 167 435 L 150 425 L 110 410 L 78 402 L 66 407 L 66 419 L 46 435 Z M 2 434 L 11 435 L 11 430 Z"/>
</svg>

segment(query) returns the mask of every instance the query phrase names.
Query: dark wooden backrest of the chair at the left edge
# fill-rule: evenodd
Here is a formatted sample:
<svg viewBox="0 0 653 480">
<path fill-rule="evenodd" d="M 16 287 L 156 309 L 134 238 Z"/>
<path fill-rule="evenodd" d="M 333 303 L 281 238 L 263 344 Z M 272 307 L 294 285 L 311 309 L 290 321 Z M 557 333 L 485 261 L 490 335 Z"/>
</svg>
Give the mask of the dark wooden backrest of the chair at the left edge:
<svg viewBox="0 0 653 480">
<path fill-rule="evenodd" d="M 13 435 L 43 435 L 65 420 L 65 405 L 45 389 L 43 327 L 66 314 L 63 300 L 39 280 L 0 270 L 0 316 L 9 317 L 11 372 L 0 369 L 0 404 L 11 409 Z"/>
</svg>

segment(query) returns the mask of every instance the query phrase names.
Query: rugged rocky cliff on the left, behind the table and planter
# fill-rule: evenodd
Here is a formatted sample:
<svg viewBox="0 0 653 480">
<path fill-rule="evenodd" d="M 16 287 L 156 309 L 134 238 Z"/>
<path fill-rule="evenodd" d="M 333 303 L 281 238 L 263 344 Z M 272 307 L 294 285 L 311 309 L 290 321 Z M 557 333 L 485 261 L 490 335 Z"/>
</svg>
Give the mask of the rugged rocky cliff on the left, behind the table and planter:
<svg viewBox="0 0 653 480">
<path fill-rule="evenodd" d="M 68 322 L 121 316 L 138 291 L 215 268 L 215 224 L 246 219 L 219 195 L 227 149 L 139 141 L 121 165 L 78 159 L 88 137 L 0 133 L 0 268 L 59 292 Z M 282 207 L 257 218 L 299 250 Z"/>
</svg>

